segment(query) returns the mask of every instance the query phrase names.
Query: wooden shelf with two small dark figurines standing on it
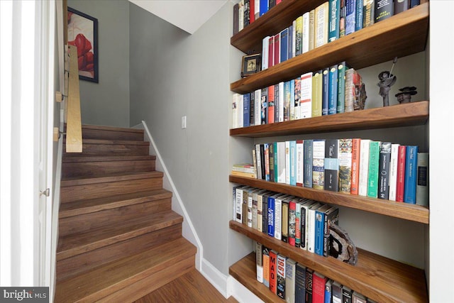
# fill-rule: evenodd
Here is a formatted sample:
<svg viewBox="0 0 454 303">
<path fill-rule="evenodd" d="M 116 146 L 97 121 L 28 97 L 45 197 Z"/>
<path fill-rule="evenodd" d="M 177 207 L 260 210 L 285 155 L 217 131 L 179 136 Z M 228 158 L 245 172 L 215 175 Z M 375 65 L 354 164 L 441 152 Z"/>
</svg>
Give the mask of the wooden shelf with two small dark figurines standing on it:
<svg viewBox="0 0 454 303">
<path fill-rule="evenodd" d="M 278 123 L 233 128 L 230 136 L 269 137 L 327 131 L 358 131 L 361 129 L 423 125 L 428 119 L 428 101 L 351 111 Z"/>
</svg>

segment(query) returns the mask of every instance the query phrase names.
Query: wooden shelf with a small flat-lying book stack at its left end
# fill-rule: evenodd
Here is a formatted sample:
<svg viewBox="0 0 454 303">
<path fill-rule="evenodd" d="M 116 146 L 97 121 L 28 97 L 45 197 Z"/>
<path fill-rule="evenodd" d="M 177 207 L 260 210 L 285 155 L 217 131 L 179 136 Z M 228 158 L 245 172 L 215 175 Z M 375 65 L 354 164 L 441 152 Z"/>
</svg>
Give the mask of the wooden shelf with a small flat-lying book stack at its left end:
<svg viewBox="0 0 454 303">
<path fill-rule="evenodd" d="M 307 187 L 297 187 L 277 182 L 253 179 L 248 177 L 238 177 L 230 175 L 230 182 L 244 184 L 251 187 L 267 189 L 273 192 L 292 194 L 301 198 L 313 199 L 315 201 L 345 206 L 350 209 L 360 209 L 375 214 L 392 216 L 394 218 L 415 221 L 428 224 L 429 211 L 426 207 L 402 202 L 393 202 L 383 199 L 362 197 L 356 194 L 343 194 L 341 192 L 329 192 L 327 190 L 312 189 Z"/>
</svg>

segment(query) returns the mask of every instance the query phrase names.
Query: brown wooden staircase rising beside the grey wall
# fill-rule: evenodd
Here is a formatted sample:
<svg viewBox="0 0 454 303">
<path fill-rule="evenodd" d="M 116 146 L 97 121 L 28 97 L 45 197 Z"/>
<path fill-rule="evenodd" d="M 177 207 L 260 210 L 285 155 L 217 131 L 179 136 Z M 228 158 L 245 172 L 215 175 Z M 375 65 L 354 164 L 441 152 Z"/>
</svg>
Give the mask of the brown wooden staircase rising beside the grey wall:
<svg viewBox="0 0 454 303">
<path fill-rule="evenodd" d="M 194 270 L 143 131 L 83 126 L 82 138 L 62 160 L 55 302 L 133 302 Z"/>
</svg>

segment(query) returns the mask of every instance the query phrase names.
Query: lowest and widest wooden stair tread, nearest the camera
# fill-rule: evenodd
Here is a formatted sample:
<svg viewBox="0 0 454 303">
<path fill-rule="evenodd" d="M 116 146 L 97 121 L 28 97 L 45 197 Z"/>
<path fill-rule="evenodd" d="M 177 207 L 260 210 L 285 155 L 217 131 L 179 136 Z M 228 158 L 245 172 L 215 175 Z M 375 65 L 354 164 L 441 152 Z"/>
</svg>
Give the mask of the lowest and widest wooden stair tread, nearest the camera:
<svg viewBox="0 0 454 303">
<path fill-rule="evenodd" d="M 153 275 L 168 266 L 193 256 L 195 246 L 184 238 L 145 250 L 57 284 L 55 302 L 95 301 L 109 293 Z"/>
</svg>

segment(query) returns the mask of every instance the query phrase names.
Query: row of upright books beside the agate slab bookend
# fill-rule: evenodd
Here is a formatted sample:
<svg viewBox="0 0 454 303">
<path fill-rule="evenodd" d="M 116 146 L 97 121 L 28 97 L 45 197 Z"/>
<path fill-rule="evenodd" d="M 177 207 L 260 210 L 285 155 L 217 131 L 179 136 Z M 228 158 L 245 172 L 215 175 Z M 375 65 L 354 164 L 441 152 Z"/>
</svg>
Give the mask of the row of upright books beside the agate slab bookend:
<svg viewBox="0 0 454 303">
<path fill-rule="evenodd" d="M 331 255 L 330 225 L 339 221 L 336 206 L 247 186 L 235 187 L 233 194 L 238 223 L 310 253 Z"/>
</svg>

